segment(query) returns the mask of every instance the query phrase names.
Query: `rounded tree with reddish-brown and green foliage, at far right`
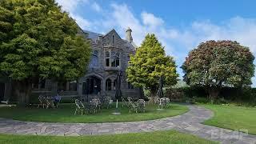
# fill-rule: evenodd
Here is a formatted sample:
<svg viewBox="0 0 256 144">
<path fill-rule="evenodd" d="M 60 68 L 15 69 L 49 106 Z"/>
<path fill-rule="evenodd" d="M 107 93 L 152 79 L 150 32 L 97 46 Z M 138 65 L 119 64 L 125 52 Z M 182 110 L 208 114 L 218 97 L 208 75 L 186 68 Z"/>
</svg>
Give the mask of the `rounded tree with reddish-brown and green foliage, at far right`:
<svg viewBox="0 0 256 144">
<path fill-rule="evenodd" d="M 182 65 L 184 81 L 190 86 L 204 86 L 210 98 L 217 98 L 222 86 L 250 86 L 253 62 L 249 48 L 238 42 L 202 42 Z"/>
</svg>

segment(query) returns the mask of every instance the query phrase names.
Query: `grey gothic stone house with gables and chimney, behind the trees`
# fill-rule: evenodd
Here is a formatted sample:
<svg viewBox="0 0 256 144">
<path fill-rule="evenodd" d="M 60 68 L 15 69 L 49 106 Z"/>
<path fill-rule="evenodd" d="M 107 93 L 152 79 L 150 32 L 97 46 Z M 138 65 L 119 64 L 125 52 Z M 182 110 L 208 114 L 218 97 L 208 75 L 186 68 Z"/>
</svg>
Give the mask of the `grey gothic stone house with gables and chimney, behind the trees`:
<svg viewBox="0 0 256 144">
<path fill-rule="evenodd" d="M 106 95 L 114 98 L 115 83 L 118 71 L 122 71 L 121 90 L 123 97 L 140 97 L 141 90 L 134 88 L 126 81 L 126 67 L 130 54 L 134 54 L 136 46 L 131 35 L 132 30 L 126 30 L 126 39 L 120 38 L 115 30 L 102 35 L 82 30 L 86 38 L 90 38 L 92 55 L 86 74 L 74 82 L 51 82 L 50 79 L 38 80 L 33 84 L 34 96 L 40 93 L 56 94 L 62 90 L 61 95 L 82 96 L 92 98 L 94 96 L 104 97 Z M 0 81 L 0 98 L 14 100 L 11 98 L 11 83 Z"/>
</svg>

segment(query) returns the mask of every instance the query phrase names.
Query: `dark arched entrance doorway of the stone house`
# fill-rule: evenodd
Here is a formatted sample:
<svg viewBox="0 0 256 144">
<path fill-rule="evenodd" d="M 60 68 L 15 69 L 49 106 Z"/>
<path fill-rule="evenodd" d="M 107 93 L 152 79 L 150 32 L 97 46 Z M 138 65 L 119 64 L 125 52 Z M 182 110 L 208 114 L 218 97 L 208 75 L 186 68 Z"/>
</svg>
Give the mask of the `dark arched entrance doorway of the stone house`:
<svg viewBox="0 0 256 144">
<path fill-rule="evenodd" d="M 101 92 L 101 80 L 97 77 L 86 78 L 82 87 L 83 94 L 98 94 Z"/>
</svg>

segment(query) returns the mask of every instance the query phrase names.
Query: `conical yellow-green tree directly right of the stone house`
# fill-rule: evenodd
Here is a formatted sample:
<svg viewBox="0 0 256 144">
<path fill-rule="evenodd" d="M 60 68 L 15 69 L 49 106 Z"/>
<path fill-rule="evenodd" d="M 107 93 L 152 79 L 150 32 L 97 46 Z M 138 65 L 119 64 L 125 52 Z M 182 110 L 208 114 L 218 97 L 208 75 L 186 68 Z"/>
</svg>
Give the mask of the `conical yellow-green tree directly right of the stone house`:
<svg viewBox="0 0 256 144">
<path fill-rule="evenodd" d="M 161 76 L 167 85 L 174 85 L 178 80 L 174 59 L 166 56 L 164 47 L 154 34 L 147 34 L 136 53 L 130 55 L 126 74 L 128 82 L 146 87 L 152 96 L 157 93 Z"/>
</svg>

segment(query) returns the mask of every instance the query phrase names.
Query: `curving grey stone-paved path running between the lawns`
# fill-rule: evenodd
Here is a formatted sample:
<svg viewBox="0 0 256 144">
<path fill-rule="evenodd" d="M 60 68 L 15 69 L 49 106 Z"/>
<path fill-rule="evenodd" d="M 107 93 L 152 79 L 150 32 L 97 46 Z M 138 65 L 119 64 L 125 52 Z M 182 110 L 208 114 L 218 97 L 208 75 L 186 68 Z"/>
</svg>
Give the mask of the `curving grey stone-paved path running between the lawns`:
<svg viewBox="0 0 256 144">
<path fill-rule="evenodd" d="M 256 144 L 255 135 L 202 125 L 200 122 L 211 118 L 214 115 L 213 112 L 201 106 L 188 107 L 190 111 L 186 114 L 142 122 L 54 123 L 22 122 L 0 118 L 0 133 L 79 136 L 138 133 L 154 130 L 178 130 L 183 133 L 194 134 L 200 138 L 222 143 Z"/>
</svg>

